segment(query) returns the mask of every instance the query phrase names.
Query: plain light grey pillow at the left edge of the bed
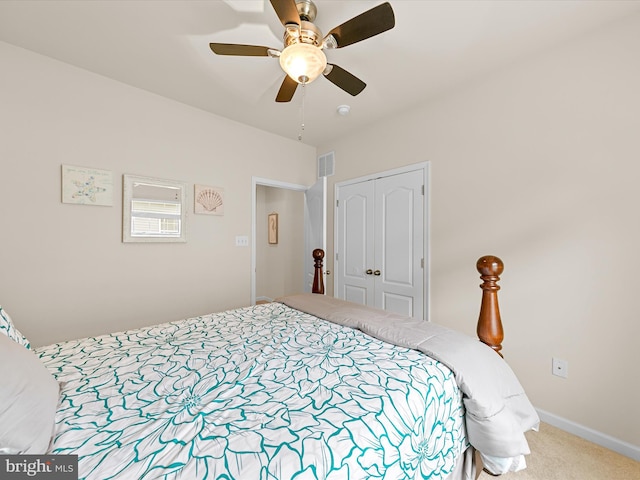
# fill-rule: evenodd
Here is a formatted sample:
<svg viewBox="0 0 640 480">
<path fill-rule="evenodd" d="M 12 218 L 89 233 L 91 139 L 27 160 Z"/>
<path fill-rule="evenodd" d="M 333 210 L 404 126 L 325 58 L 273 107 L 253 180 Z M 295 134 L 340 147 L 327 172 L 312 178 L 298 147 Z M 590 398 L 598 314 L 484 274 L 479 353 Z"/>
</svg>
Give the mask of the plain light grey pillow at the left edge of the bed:
<svg viewBox="0 0 640 480">
<path fill-rule="evenodd" d="M 60 388 L 33 350 L 0 335 L 0 451 L 47 453 Z"/>
</svg>

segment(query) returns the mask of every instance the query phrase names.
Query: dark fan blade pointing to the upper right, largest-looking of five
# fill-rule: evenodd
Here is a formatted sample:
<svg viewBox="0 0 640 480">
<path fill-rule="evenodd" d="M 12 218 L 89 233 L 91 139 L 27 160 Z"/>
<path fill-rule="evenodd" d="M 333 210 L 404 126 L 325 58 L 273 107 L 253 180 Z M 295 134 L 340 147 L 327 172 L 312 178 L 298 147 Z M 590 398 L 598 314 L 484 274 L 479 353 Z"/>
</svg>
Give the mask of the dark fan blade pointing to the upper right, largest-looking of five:
<svg viewBox="0 0 640 480">
<path fill-rule="evenodd" d="M 386 32 L 395 25 L 393 9 L 389 2 L 386 2 L 347 20 L 331 30 L 325 38 L 333 36 L 336 41 L 335 48 L 342 48 Z"/>
</svg>

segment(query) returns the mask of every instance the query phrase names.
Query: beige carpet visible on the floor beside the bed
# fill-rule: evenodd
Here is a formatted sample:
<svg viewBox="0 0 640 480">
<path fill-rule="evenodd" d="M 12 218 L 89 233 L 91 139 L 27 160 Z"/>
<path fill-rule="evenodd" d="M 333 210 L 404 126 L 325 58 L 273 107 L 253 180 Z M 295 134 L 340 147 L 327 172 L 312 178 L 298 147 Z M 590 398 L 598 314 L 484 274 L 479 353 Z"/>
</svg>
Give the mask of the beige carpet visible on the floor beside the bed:
<svg viewBox="0 0 640 480">
<path fill-rule="evenodd" d="M 607 450 L 548 424 L 528 432 L 531 455 L 517 473 L 480 480 L 640 480 L 640 462 Z"/>
</svg>

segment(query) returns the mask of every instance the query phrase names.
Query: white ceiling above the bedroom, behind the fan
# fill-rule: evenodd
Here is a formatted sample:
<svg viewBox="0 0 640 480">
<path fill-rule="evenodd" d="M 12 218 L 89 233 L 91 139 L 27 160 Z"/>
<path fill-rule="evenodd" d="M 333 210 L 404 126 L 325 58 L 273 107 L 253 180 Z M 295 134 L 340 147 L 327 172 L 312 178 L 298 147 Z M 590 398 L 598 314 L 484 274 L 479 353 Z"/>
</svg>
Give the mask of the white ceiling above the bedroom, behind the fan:
<svg viewBox="0 0 640 480">
<path fill-rule="evenodd" d="M 314 1 L 324 33 L 382 3 Z M 390 3 L 394 29 L 327 51 L 367 83 L 360 95 L 321 77 L 284 104 L 274 101 L 284 78 L 277 59 L 209 49 L 281 49 L 283 27 L 268 0 L 0 0 L 0 40 L 292 139 L 304 111 L 303 142 L 319 145 L 640 11 L 636 0 Z M 351 106 L 346 117 L 336 111 L 342 104 Z"/>
</svg>

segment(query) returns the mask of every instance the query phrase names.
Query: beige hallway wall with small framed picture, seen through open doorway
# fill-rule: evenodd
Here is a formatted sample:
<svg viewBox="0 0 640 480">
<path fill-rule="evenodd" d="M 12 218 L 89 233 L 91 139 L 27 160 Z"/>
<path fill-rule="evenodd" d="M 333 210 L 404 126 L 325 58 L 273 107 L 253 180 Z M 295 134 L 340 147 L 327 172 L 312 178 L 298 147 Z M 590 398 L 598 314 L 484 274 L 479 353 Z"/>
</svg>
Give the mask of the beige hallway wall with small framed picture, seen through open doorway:
<svg viewBox="0 0 640 480">
<path fill-rule="evenodd" d="M 304 193 L 257 186 L 256 299 L 304 291 Z M 267 215 L 278 214 L 278 243 L 267 239 Z"/>
</svg>

